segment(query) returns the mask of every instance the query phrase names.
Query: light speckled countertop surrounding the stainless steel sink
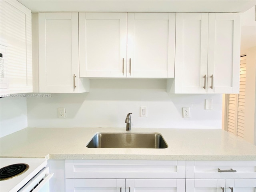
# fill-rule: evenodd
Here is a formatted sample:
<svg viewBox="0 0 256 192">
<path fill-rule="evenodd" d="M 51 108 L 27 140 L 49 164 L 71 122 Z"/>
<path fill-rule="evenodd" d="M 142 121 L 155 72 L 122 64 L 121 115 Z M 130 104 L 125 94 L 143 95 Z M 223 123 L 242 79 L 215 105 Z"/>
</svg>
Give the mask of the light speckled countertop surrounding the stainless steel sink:
<svg viewBox="0 0 256 192">
<path fill-rule="evenodd" d="M 98 132 L 125 128 L 25 128 L 0 139 L 0 157 L 134 160 L 256 160 L 256 146 L 220 129 L 146 129 L 160 133 L 168 148 L 87 148 Z"/>
</svg>

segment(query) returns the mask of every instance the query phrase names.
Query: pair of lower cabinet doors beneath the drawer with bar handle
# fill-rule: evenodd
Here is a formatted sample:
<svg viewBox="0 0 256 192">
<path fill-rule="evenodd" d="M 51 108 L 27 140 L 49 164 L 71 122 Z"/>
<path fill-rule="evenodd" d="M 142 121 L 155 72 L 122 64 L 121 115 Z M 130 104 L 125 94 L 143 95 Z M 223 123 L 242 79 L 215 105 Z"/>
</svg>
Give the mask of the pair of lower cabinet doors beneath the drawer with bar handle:
<svg viewBox="0 0 256 192">
<path fill-rule="evenodd" d="M 186 179 L 186 192 L 256 192 L 256 179 Z"/>
</svg>

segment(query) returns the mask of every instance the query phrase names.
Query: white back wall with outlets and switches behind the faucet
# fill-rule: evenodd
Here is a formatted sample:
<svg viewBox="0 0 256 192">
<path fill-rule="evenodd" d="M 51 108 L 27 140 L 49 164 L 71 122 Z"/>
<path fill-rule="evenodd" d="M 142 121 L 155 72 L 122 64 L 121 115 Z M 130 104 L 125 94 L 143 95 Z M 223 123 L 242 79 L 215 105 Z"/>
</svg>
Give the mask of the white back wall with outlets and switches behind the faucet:
<svg viewBox="0 0 256 192">
<path fill-rule="evenodd" d="M 204 110 L 204 100 L 213 100 L 213 110 Z M 148 117 L 140 117 L 140 106 Z M 28 127 L 124 128 L 132 112 L 134 128 L 221 128 L 221 94 L 167 94 L 166 80 L 92 79 L 90 92 L 52 94 L 50 98 L 27 98 Z M 58 118 L 58 108 L 66 118 Z M 190 107 L 190 118 L 182 118 Z"/>
</svg>

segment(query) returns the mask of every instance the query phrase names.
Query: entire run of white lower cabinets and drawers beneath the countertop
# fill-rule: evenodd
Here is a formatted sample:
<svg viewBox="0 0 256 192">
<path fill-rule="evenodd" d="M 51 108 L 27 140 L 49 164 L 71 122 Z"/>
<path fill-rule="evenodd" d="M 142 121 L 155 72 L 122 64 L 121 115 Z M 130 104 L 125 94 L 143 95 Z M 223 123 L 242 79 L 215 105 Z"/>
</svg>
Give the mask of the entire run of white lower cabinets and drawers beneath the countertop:
<svg viewBox="0 0 256 192">
<path fill-rule="evenodd" d="M 256 192 L 256 161 L 65 160 L 67 192 Z"/>
</svg>

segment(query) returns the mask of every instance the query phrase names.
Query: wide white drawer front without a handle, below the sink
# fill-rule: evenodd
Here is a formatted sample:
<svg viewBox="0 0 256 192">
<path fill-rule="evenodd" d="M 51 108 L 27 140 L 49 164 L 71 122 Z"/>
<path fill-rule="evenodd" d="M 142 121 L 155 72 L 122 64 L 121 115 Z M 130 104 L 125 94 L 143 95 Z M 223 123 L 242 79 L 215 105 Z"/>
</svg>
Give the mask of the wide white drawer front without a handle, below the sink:
<svg viewBox="0 0 256 192">
<path fill-rule="evenodd" d="M 66 178 L 185 178 L 185 161 L 66 160 Z"/>
</svg>

